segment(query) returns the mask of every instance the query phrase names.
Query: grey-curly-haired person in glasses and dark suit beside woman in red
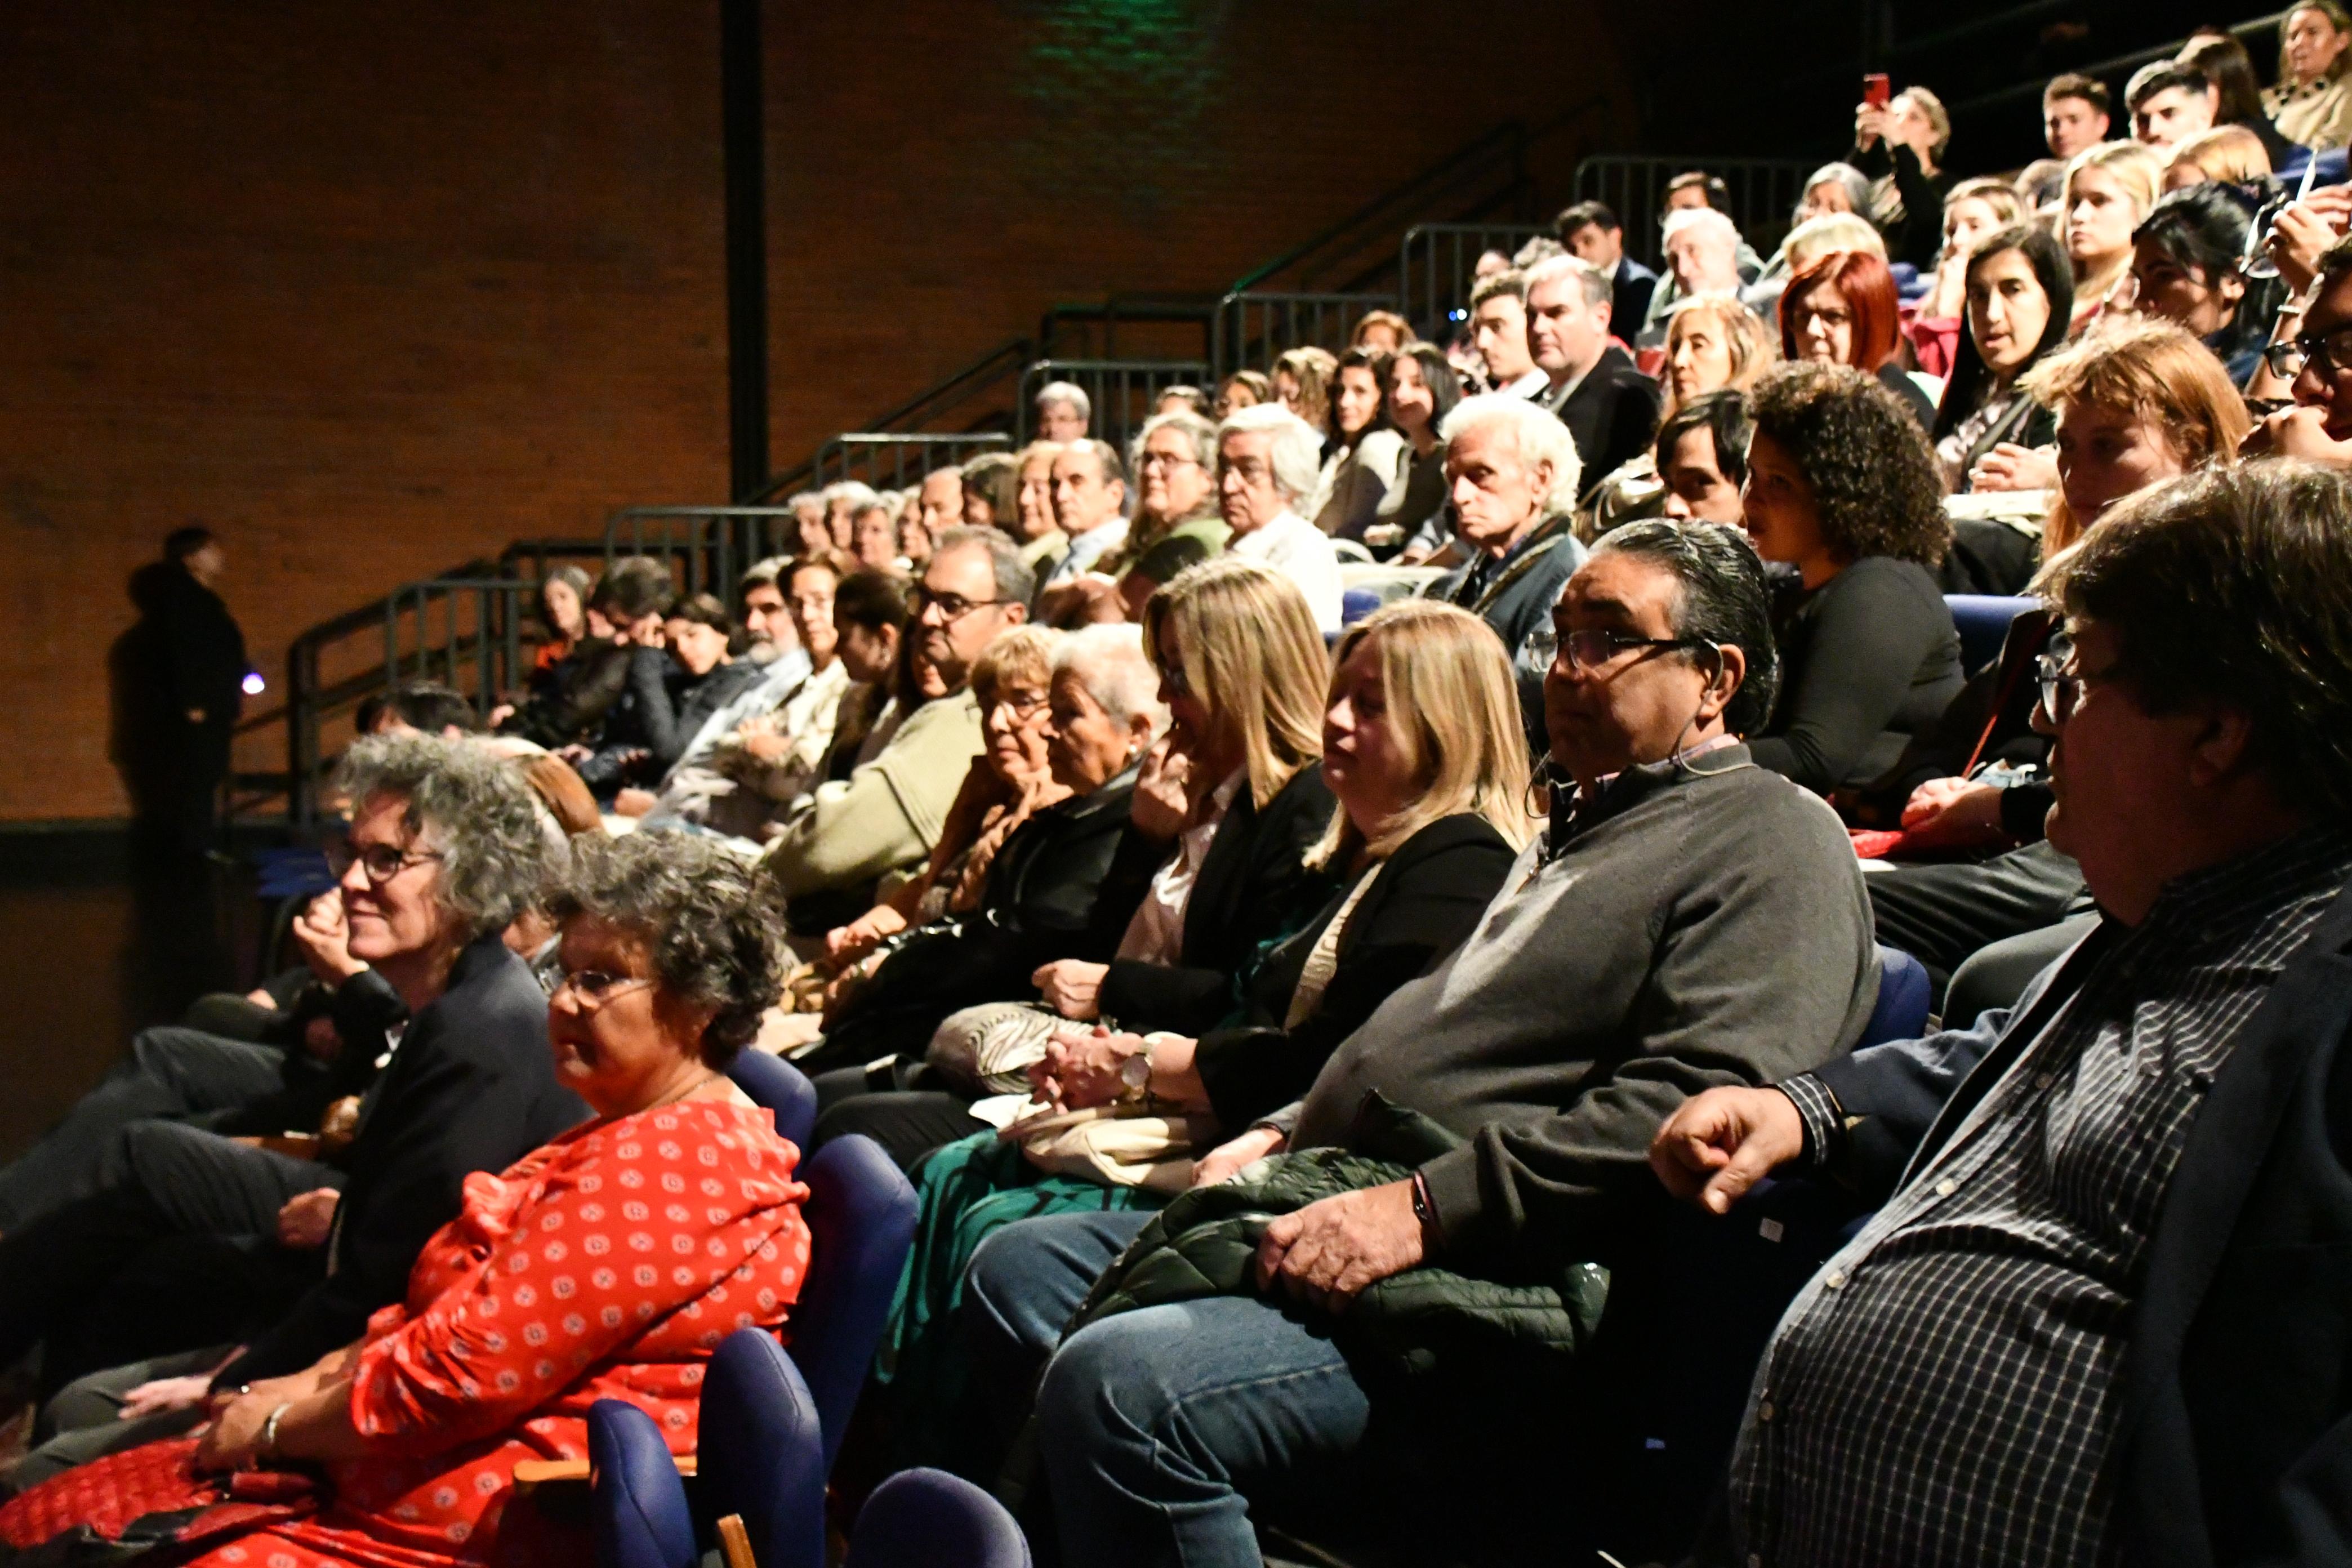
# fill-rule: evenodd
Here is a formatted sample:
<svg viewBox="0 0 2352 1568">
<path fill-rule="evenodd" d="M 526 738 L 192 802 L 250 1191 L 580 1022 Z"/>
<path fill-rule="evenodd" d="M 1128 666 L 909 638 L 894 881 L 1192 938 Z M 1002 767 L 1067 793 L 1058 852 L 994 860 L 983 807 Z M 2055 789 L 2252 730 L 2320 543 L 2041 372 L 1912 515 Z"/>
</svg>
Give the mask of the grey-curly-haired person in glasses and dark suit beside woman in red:
<svg viewBox="0 0 2352 1568">
<path fill-rule="evenodd" d="M 350 952 L 409 1009 L 376 1046 L 390 1060 L 353 1143 L 329 1164 L 132 1128 L 122 1185 L 0 1239 L 0 1359 L 40 1342 L 47 1387 L 230 1342 L 219 1387 L 310 1366 L 400 1300 L 470 1173 L 586 1114 L 555 1081 L 546 994 L 501 940 L 548 865 L 520 776 L 470 743 L 397 736 L 358 741 L 339 785 L 358 802 L 339 849 Z M 193 1420 L 200 1401 L 176 1385 L 162 1403 Z"/>
</svg>

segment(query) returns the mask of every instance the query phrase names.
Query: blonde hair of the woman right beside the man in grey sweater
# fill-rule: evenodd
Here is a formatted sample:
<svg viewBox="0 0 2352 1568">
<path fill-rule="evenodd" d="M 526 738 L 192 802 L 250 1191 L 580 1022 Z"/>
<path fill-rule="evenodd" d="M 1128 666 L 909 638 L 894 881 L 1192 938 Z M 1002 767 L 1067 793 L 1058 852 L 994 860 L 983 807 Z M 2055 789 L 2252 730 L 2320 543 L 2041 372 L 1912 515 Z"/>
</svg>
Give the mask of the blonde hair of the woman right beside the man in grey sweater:
<svg viewBox="0 0 2352 1568">
<path fill-rule="evenodd" d="M 1334 677 L 1369 637 L 1381 639 L 1390 733 L 1416 797 L 1369 839 L 1345 809 L 1334 811 L 1308 865 L 1348 867 L 1357 853 L 1385 860 L 1430 823 L 1461 813 L 1486 818 L 1512 849 L 1524 849 L 1534 832 L 1524 804 L 1526 733 L 1510 656 L 1494 628 L 1437 599 L 1388 604 L 1341 632 Z"/>
</svg>

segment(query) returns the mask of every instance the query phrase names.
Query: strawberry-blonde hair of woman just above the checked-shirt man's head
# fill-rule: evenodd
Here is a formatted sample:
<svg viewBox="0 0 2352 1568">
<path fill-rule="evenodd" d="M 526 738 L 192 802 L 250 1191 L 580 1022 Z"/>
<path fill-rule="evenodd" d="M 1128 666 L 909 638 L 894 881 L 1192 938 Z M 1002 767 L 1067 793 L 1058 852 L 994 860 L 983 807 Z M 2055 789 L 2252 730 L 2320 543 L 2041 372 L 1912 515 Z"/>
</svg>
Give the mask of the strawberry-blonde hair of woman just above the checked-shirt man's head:
<svg viewBox="0 0 2352 1568">
<path fill-rule="evenodd" d="M 2246 400 L 2223 362 L 2171 322 L 2103 317 L 2079 343 L 2018 376 L 2018 388 L 2046 409 L 2063 411 L 2079 402 L 2147 418 L 2192 470 L 2237 461 L 2253 430 Z M 2084 522 L 2067 510 L 2060 491 L 2042 524 L 2042 559 L 2072 548 L 2082 534 Z"/>
</svg>

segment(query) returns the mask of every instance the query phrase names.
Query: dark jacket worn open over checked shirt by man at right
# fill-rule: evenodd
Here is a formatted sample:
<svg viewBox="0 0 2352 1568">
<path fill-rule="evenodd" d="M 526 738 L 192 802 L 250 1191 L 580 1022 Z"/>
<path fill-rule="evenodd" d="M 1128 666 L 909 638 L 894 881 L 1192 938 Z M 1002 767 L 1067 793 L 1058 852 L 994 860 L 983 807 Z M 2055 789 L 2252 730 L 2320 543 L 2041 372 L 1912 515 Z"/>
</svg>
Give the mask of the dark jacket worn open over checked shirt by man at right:
<svg viewBox="0 0 2352 1568">
<path fill-rule="evenodd" d="M 1830 1063 L 1865 1197 L 1931 1157 L 2079 990 L 2096 929 L 1999 1030 Z M 1877 1178 L 1872 1182 L 1872 1178 Z M 2343 1563 L 2352 1542 L 2352 893 L 2239 1032 L 2147 1246 L 2119 1368 L 2124 1556 Z"/>
</svg>

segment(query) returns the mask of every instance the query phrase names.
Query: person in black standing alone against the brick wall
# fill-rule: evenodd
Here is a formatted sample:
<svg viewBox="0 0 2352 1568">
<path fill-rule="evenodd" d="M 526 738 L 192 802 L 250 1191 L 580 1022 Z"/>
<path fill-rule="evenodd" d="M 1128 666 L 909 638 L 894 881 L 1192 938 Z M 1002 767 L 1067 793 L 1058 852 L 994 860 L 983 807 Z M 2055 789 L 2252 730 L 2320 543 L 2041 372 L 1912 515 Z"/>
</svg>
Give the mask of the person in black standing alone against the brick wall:
<svg viewBox="0 0 2352 1568">
<path fill-rule="evenodd" d="M 212 529 L 174 529 L 132 581 L 141 621 L 118 649 L 115 762 L 141 858 L 155 867 L 214 849 L 228 738 L 245 703 L 245 632 L 216 585 L 228 552 Z"/>
</svg>

